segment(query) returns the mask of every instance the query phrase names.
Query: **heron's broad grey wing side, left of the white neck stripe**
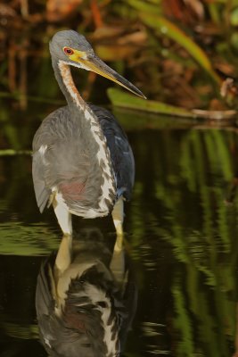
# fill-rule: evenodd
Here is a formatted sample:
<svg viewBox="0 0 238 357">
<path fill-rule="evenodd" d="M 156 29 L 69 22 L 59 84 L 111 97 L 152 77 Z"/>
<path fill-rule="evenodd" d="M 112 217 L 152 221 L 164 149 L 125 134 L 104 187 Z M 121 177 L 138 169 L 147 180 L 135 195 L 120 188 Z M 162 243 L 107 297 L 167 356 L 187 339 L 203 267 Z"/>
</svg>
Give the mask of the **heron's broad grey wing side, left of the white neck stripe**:
<svg viewBox="0 0 238 357">
<path fill-rule="evenodd" d="M 80 115 L 77 108 L 71 112 L 68 106 L 62 107 L 48 115 L 37 129 L 32 175 L 40 212 L 56 190 L 75 214 L 84 216 L 88 208 L 98 208 L 103 185 L 95 155 L 98 147 L 90 133 L 90 122 Z"/>
</svg>

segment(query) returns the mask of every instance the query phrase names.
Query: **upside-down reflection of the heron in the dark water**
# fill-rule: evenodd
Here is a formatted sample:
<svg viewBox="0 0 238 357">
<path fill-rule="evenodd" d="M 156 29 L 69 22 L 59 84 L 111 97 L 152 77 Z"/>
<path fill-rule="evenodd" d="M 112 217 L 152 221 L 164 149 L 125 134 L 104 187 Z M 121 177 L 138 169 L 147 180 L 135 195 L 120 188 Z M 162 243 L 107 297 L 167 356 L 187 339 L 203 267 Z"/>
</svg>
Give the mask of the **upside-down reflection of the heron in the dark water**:
<svg viewBox="0 0 238 357">
<path fill-rule="evenodd" d="M 135 315 L 136 287 L 123 242 L 99 228 L 64 236 L 42 264 L 36 308 L 51 356 L 118 356 Z"/>
</svg>

